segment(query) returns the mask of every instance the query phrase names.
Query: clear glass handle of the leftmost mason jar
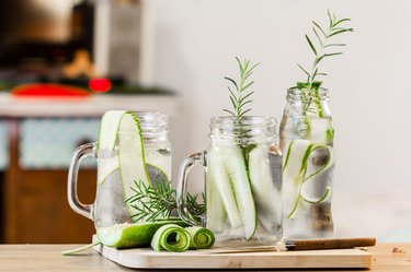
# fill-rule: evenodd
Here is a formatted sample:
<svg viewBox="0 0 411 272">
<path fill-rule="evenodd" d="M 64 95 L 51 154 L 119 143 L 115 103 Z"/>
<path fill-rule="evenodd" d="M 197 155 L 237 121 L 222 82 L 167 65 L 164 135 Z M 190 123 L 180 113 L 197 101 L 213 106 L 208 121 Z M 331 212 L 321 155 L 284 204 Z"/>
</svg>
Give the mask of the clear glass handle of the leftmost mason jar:
<svg viewBox="0 0 411 272">
<path fill-rule="evenodd" d="M 77 180 L 81 161 L 84 157 L 95 157 L 95 143 L 85 143 L 77 147 L 71 158 L 67 180 L 67 199 L 71 209 L 90 220 L 93 218 L 92 204 L 83 204 L 80 202 L 79 197 L 77 196 Z"/>
</svg>

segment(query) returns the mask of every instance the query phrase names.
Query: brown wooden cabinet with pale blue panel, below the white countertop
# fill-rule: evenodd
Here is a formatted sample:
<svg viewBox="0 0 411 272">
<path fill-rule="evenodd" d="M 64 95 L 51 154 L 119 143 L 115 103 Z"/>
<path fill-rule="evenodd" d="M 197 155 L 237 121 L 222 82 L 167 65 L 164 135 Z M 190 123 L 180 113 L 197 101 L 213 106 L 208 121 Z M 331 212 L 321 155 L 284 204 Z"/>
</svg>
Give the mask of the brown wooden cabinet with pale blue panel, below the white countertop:
<svg viewBox="0 0 411 272">
<path fill-rule="evenodd" d="M 75 133 L 67 134 L 67 130 L 79 127 L 76 123 L 70 126 L 69 122 L 71 119 L 66 118 L 54 120 L 9 118 L 7 120 L 9 167 L 3 179 L 5 243 L 90 241 L 94 232 L 92 222 L 73 213 L 66 197 L 70 153 L 78 140 L 83 141 L 81 137 L 84 132 L 80 127 Z M 98 123 L 96 119 L 95 122 Z M 60 126 L 68 128 L 61 130 Z M 60 135 L 65 137 L 54 135 L 58 129 Z M 35 139 L 35 135 L 43 137 Z M 65 138 L 67 141 L 64 141 Z M 95 167 L 81 170 L 79 197 L 82 201 L 88 203 L 93 201 L 95 178 Z"/>
</svg>

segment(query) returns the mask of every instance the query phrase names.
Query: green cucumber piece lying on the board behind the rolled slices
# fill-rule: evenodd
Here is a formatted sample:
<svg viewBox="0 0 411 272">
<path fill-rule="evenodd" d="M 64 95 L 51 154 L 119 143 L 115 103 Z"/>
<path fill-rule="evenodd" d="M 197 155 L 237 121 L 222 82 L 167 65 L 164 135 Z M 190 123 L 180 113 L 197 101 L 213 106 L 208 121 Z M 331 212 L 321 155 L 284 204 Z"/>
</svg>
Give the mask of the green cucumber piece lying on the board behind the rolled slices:
<svg viewBox="0 0 411 272">
<path fill-rule="evenodd" d="M 118 224 L 111 227 L 96 229 L 99 240 L 107 247 L 113 248 L 136 248 L 150 246 L 156 232 L 164 225 L 176 224 L 186 226 L 182 221 L 160 221 L 135 224 Z"/>
</svg>

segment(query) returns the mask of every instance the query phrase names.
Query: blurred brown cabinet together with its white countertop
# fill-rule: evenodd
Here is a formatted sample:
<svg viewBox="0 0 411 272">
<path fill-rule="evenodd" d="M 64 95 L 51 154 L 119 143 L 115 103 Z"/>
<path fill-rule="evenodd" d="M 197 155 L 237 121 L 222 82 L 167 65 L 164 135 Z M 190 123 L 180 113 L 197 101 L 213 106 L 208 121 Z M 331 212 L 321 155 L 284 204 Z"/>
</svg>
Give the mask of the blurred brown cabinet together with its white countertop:
<svg viewBox="0 0 411 272">
<path fill-rule="evenodd" d="M 173 96 L 109 95 L 70 103 L 0 96 L 8 150 L 0 175 L 1 243 L 90 243 L 93 223 L 75 213 L 67 201 L 69 158 L 77 145 L 95 141 L 101 115 L 118 108 L 161 108 L 168 115 L 178 110 Z M 92 162 L 88 166 L 80 172 L 78 191 L 82 202 L 92 203 L 96 172 Z"/>
</svg>

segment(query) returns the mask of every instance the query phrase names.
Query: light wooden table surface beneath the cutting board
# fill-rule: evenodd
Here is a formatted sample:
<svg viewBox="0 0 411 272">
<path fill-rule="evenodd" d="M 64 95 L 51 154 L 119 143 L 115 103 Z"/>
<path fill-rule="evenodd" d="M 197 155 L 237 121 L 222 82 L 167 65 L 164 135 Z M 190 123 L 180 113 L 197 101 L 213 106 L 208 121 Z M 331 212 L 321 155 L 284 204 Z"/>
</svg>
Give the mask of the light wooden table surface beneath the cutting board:
<svg viewBox="0 0 411 272">
<path fill-rule="evenodd" d="M 93 250 L 77 256 L 65 257 L 60 255 L 61 250 L 76 247 L 78 245 L 0 245 L 0 271 L 133 271 L 106 260 Z M 406 252 L 393 253 L 393 247 Z M 411 271 L 411 244 L 381 244 L 369 248 L 369 252 L 374 255 L 370 271 Z M 287 271 L 292 272 L 292 270 Z M 326 270 L 321 271 L 324 272 Z M 338 271 L 343 272 L 345 270 Z"/>
</svg>

